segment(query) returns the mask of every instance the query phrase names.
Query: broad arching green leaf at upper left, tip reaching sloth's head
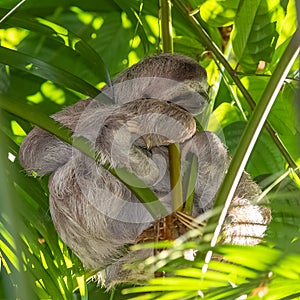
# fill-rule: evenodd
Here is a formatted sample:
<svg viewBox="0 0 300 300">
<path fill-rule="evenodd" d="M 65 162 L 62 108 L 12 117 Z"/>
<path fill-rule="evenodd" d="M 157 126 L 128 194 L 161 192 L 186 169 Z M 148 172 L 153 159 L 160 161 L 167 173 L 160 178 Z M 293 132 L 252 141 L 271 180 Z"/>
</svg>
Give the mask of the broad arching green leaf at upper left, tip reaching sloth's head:
<svg viewBox="0 0 300 300">
<path fill-rule="evenodd" d="M 85 40 L 67 28 L 46 19 L 35 20 L 31 16 L 18 13 L 4 24 L 7 28 L 20 27 L 30 30 L 30 35 L 23 39 L 18 47 L 18 50 L 24 54 L 32 54 L 32 48 L 35 48 L 36 58 L 48 63 L 52 62 L 66 71 L 75 72 L 76 69 L 82 70 L 85 67 L 89 77 L 93 73 L 98 82 L 108 81 L 107 69 L 100 55 Z"/>
</svg>

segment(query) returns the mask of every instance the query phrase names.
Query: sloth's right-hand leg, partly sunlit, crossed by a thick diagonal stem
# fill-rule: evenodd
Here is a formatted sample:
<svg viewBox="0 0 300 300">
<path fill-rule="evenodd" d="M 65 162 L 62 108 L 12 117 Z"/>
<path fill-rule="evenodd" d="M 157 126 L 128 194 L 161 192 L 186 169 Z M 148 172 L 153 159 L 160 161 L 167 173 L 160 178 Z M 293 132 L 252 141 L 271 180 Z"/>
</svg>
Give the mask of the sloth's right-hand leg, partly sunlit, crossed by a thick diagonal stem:
<svg viewBox="0 0 300 300">
<path fill-rule="evenodd" d="M 183 155 L 188 152 L 198 158 L 194 206 L 194 215 L 197 215 L 213 205 L 230 157 L 220 139 L 211 132 L 196 134 L 183 147 Z M 244 172 L 223 226 L 223 242 L 254 245 L 261 240 L 271 220 L 271 213 L 268 207 L 255 203 L 260 193 L 258 185 Z"/>
</svg>

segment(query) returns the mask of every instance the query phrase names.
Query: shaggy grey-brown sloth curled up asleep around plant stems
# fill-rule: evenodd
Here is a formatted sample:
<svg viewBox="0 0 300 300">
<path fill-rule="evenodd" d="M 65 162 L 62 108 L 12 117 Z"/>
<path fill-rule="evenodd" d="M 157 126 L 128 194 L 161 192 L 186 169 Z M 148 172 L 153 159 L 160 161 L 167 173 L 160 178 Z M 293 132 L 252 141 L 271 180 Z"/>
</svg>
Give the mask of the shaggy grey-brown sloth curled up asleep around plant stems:
<svg viewBox="0 0 300 300">
<path fill-rule="evenodd" d="M 214 133 L 196 132 L 193 115 L 204 114 L 208 107 L 206 88 L 206 73 L 194 60 L 179 54 L 150 56 L 120 73 L 112 86 L 102 90 L 102 95 L 114 100 L 113 105 L 88 99 L 52 117 L 72 129 L 74 136 L 89 139 L 102 164 L 124 167 L 140 177 L 168 213 L 172 204 L 167 146 L 180 143 L 183 174 L 189 153 L 198 158 L 193 208 L 197 216 L 211 208 L 230 160 Z M 143 278 L 134 271 L 124 271 L 122 265 L 137 255 L 129 252 L 127 245 L 154 219 L 123 183 L 38 127 L 23 141 L 19 159 L 28 172 L 39 176 L 51 173 L 54 225 L 86 268 L 105 268 L 108 285 Z M 224 242 L 252 245 L 263 236 L 270 221 L 269 209 L 251 204 L 260 193 L 244 173 L 223 228 Z M 151 254 L 151 250 L 143 250 L 138 255 Z"/>
</svg>

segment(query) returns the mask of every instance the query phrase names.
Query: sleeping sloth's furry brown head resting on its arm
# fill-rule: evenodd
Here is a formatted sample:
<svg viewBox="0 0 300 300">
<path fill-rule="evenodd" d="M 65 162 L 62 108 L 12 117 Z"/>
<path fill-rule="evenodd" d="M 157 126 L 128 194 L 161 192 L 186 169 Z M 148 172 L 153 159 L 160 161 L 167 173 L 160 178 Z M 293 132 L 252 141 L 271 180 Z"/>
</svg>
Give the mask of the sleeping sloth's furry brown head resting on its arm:
<svg viewBox="0 0 300 300">
<path fill-rule="evenodd" d="M 193 115 L 208 104 L 206 71 L 195 60 L 180 54 L 146 57 L 115 77 L 103 89 L 115 103 L 153 98 L 171 101 Z"/>
</svg>

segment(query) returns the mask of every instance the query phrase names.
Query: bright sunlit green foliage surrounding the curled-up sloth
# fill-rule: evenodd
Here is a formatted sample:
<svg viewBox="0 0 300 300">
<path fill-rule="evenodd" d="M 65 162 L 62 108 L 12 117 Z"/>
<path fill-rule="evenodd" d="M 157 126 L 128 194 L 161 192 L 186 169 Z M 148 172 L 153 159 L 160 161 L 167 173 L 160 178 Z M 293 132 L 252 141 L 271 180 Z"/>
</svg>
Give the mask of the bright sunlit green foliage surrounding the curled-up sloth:
<svg viewBox="0 0 300 300">
<path fill-rule="evenodd" d="M 0 19 L 18 2 L 2 0 Z M 174 0 L 172 13 L 174 51 L 197 59 L 208 73 L 213 113 L 207 128 L 234 155 L 251 100 L 260 104 L 296 32 L 295 1 Z M 18 164 L 19 145 L 34 124 L 59 134 L 47 116 L 97 96 L 115 74 L 161 51 L 159 15 L 159 3 L 150 0 L 27 0 L 0 23 L 0 299 L 128 299 L 140 292 L 136 299 L 300 298 L 299 61 L 268 117 L 285 151 L 264 129 L 247 164 L 270 190 L 273 221 L 260 246 L 214 249 L 234 264 L 210 262 L 204 274 L 209 235 L 195 241 L 191 233 L 165 245 L 167 255 L 146 261 L 169 277 L 123 294 L 123 287 L 105 292 L 58 238 L 47 178 L 28 177 Z M 228 25 L 233 31 L 224 48 L 218 27 Z M 265 67 L 258 70 L 260 61 Z M 182 258 L 190 248 L 198 250 L 193 262 Z"/>
</svg>

